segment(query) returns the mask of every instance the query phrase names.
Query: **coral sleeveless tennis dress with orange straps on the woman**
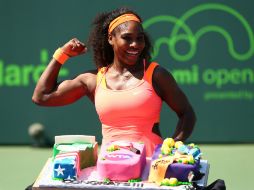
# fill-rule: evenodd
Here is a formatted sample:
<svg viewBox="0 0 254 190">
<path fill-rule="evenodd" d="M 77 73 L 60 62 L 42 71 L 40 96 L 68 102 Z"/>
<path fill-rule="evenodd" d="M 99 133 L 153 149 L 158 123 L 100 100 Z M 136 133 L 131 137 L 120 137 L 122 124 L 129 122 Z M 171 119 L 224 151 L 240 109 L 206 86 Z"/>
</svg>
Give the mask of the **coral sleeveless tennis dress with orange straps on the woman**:
<svg viewBox="0 0 254 190">
<path fill-rule="evenodd" d="M 162 106 L 152 86 L 152 74 L 157 65 L 151 63 L 144 70 L 142 80 L 124 90 L 108 89 L 105 79 L 108 67 L 99 69 L 95 108 L 102 123 L 102 144 L 117 140 L 144 142 L 146 154 L 151 156 L 156 144 L 162 143 L 162 138 L 153 132 Z"/>
</svg>

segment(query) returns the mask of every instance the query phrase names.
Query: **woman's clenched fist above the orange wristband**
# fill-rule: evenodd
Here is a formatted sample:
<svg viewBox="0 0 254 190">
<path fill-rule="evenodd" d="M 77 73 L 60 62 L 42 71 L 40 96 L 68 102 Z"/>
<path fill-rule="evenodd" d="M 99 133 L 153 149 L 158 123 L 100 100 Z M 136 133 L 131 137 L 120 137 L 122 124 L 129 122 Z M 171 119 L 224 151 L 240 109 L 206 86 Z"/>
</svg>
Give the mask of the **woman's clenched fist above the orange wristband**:
<svg viewBox="0 0 254 190">
<path fill-rule="evenodd" d="M 62 50 L 68 56 L 74 57 L 85 53 L 87 48 L 84 43 L 80 42 L 77 38 L 73 38 L 62 46 Z"/>
</svg>

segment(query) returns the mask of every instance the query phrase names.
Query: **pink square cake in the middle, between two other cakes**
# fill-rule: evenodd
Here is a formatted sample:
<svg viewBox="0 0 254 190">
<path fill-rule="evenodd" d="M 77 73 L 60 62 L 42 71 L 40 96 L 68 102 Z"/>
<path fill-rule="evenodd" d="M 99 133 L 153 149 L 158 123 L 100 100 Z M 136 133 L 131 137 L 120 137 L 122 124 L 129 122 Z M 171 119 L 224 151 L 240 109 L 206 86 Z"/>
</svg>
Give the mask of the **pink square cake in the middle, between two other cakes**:
<svg viewBox="0 0 254 190">
<path fill-rule="evenodd" d="M 128 181 L 140 178 L 145 164 L 144 143 L 115 141 L 101 148 L 97 171 L 104 179 Z"/>
</svg>

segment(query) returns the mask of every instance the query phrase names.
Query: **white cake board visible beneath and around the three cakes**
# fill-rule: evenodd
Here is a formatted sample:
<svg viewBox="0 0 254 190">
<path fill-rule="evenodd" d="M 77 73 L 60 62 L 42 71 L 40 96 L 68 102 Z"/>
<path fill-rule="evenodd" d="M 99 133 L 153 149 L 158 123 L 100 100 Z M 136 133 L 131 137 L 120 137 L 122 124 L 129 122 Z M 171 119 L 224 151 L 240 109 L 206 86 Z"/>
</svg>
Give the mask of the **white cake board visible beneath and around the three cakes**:
<svg viewBox="0 0 254 190">
<path fill-rule="evenodd" d="M 143 170 L 141 182 L 103 182 L 98 178 L 96 166 L 83 169 L 79 180 L 77 181 L 60 181 L 52 180 L 52 158 L 49 158 L 36 179 L 32 190 L 81 190 L 81 189 L 96 189 L 96 190 L 189 190 L 189 186 L 181 185 L 177 187 L 157 186 L 154 183 L 147 182 L 150 159 L 147 158 L 146 166 Z M 205 175 L 197 181 L 197 185 L 206 186 L 209 174 L 209 163 L 207 160 L 201 160 L 200 172 Z"/>
</svg>

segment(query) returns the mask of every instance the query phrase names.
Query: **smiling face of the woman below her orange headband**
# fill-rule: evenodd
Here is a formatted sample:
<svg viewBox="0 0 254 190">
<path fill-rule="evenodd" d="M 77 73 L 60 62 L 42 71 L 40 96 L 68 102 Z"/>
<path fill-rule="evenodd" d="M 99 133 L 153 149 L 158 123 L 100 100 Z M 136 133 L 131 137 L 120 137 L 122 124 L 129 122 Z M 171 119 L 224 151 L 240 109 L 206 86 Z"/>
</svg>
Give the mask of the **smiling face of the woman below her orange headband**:
<svg viewBox="0 0 254 190">
<path fill-rule="evenodd" d="M 114 62 L 134 65 L 145 47 L 143 28 L 136 21 L 127 21 L 109 35 L 109 43 L 114 51 Z"/>
</svg>

